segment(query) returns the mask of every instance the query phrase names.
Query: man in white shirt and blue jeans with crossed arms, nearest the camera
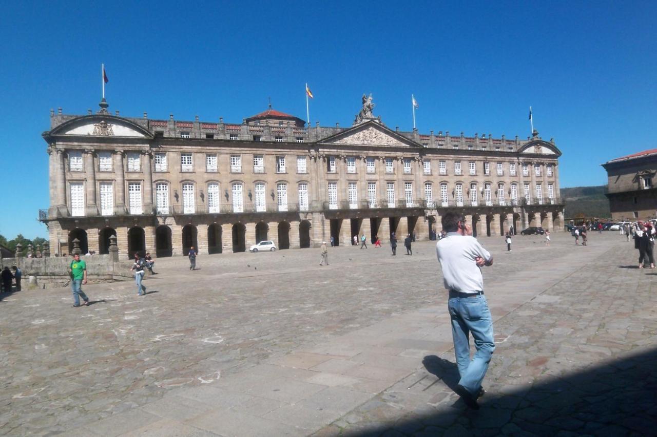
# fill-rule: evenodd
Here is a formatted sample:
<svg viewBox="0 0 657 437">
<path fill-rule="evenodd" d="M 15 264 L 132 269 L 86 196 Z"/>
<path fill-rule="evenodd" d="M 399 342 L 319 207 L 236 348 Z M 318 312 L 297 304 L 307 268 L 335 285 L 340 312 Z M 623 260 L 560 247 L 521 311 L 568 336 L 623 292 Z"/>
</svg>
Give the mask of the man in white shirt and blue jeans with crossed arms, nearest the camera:
<svg viewBox="0 0 657 437">
<path fill-rule="evenodd" d="M 495 350 L 493 320 L 484 296 L 481 270 L 482 266 L 493 264 L 493 257 L 472 237 L 472 230 L 466 226 L 462 215 L 447 213 L 443 215 L 442 224 L 447 236 L 436 243 L 436 252 L 445 288 L 449 290 L 447 306 L 461 375 L 455 392 L 468 407 L 478 409 L 477 398 L 484 394 L 482 381 Z M 472 360 L 470 333 L 476 347 Z"/>
</svg>

